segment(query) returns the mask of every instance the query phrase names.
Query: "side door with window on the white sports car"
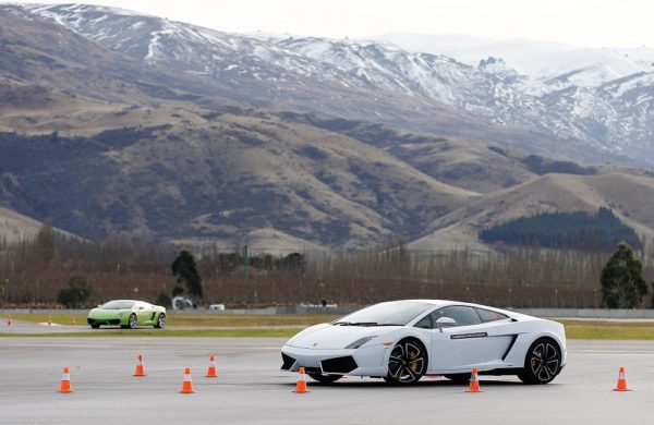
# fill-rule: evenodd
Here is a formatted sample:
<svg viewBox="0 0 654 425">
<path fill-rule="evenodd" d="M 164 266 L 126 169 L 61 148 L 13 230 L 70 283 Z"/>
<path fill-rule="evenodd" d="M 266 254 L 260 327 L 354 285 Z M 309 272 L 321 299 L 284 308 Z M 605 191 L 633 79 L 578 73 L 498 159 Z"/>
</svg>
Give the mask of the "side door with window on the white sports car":
<svg viewBox="0 0 654 425">
<path fill-rule="evenodd" d="M 455 319 L 451 327 L 437 327 L 440 317 Z M 431 366 L 437 372 L 470 371 L 492 368 L 501 363 L 510 339 L 498 338 L 495 325 L 483 323 L 471 306 L 449 305 L 432 313 L 432 356 Z M 502 351 L 504 349 L 504 351 Z"/>
</svg>

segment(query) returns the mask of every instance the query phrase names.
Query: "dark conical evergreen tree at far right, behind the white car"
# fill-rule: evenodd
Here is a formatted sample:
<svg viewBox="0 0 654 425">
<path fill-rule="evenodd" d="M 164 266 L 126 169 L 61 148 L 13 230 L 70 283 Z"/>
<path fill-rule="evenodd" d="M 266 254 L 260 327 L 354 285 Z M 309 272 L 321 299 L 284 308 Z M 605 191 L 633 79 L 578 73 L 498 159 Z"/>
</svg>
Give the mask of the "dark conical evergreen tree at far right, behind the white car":
<svg viewBox="0 0 654 425">
<path fill-rule="evenodd" d="M 633 256 L 631 246 L 621 242 L 601 276 L 602 304 L 608 308 L 633 308 L 647 293 L 643 265 Z"/>
</svg>

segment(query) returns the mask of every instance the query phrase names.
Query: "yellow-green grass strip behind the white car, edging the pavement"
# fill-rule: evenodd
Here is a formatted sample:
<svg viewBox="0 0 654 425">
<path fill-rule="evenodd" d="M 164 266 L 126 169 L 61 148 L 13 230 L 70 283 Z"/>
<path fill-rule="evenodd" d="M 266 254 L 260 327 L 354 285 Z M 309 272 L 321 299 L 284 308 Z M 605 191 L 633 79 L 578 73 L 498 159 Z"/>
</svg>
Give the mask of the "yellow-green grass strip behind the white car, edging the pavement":
<svg viewBox="0 0 654 425">
<path fill-rule="evenodd" d="M 0 315 L 4 320 L 7 315 Z M 173 314 L 168 316 L 168 324 L 173 327 L 206 327 L 206 329 L 107 329 L 97 332 L 55 332 L 40 333 L 48 337 L 291 337 L 302 328 L 319 323 L 334 320 L 330 315 L 220 315 L 220 314 Z M 48 321 L 45 314 L 12 315 L 14 320 L 33 323 Z M 52 323 L 71 325 L 73 318 L 77 325 L 86 323 L 85 315 L 51 315 Z M 609 320 L 558 320 L 566 326 L 568 339 L 588 340 L 654 340 L 654 323 L 652 321 L 609 321 Z M 215 329 L 218 327 L 238 327 L 240 329 Z M 279 327 L 279 328 L 276 328 Z M 0 337 L 20 337 L 38 335 L 2 333 Z"/>
</svg>

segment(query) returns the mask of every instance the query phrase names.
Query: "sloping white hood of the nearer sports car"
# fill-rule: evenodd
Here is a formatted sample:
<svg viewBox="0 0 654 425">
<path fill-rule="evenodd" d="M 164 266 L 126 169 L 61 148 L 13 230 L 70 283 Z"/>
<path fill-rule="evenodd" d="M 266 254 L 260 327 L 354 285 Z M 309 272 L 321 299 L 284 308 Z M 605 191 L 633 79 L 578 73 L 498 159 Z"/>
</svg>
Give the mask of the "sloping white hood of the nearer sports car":
<svg viewBox="0 0 654 425">
<path fill-rule="evenodd" d="M 388 333 L 396 326 L 334 326 L 306 329 L 292 338 L 287 345 L 313 350 L 342 350 L 352 342 L 373 336 Z"/>
</svg>

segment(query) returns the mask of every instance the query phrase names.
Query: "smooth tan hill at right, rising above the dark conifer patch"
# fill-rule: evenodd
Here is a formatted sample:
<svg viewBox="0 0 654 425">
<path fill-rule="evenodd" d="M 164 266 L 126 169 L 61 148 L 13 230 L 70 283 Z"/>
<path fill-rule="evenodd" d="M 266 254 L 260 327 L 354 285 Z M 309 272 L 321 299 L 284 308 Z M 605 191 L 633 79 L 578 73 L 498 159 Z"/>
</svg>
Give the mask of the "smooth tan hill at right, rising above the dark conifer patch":
<svg viewBox="0 0 654 425">
<path fill-rule="evenodd" d="M 415 250 L 485 248 L 479 231 L 517 217 L 545 211 L 595 212 L 608 207 L 639 235 L 654 235 L 654 179 L 625 173 L 546 174 L 486 195 L 436 219 L 429 234 L 412 242 Z"/>
</svg>

